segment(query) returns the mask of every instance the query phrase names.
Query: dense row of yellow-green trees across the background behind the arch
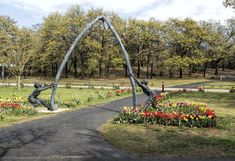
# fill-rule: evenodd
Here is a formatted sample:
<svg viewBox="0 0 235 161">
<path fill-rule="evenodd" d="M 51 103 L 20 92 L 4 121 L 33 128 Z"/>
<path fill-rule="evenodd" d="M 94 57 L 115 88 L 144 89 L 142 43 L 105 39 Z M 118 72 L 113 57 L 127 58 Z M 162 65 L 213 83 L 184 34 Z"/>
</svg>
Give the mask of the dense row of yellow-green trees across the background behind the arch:
<svg viewBox="0 0 235 161">
<path fill-rule="evenodd" d="M 223 24 L 190 18 L 126 20 L 114 12 L 85 12 L 79 6 L 63 14 L 51 13 L 32 28 L 18 27 L 12 18 L 0 16 L 0 64 L 17 77 L 54 77 L 73 40 L 100 15 L 108 17 L 118 31 L 137 77 L 182 78 L 199 70 L 205 77 L 208 68 L 213 68 L 215 75 L 219 68 L 235 68 L 235 19 Z M 100 22 L 77 44 L 64 77 L 110 77 L 120 71 L 127 76 L 118 45 Z"/>
</svg>

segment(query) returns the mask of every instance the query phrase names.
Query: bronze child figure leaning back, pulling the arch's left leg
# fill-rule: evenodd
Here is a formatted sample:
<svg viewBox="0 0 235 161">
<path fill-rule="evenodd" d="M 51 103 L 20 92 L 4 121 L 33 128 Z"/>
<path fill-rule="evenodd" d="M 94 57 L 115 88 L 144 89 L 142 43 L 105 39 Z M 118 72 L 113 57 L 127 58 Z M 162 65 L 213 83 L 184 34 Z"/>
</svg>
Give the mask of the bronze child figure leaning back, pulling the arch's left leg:
<svg viewBox="0 0 235 161">
<path fill-rule="evenodd" d="M 51 85 L 44 85 L 42 86 L 41 83 L 35 82 L 34 83 L 34 88 L 35 90 L 32 92 L 32 94 L 28 97 L 28 101 L 34 106 L 34 107 L 38 107 L 40 105 L 43 105 L 45 107 L 47 107 L 48 110 L 51 110 L 51 106 L 48 105 L 44 100 L 38 98 L 38 96 L 40 95 L 40 93 L 44 90 L 47 90 L 49 88 L 54 87 L 54 84 Z"/>
</svg>

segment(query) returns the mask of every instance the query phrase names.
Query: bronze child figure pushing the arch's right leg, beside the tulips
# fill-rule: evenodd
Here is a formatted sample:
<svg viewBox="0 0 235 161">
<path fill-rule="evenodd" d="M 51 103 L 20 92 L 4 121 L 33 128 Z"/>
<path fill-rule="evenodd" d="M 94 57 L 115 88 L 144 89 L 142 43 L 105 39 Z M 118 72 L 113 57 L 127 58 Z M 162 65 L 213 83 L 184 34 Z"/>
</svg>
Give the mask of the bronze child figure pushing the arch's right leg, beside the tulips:
<svg viewBox="0 0 235 161">
<path fill-rule="evenodd" d="M 148 87 L 148 81 L 144 79 L 141 82 L 139 82 L 133 75 L 131 75 L 131 77 L 134 78 L 136 84 L 142 89 L 144 94 L 146 94 L 149 97 L 147 99 L 144 107 L 141 109 L 141 111 L 146 110 L 149 105 L 151 105 L 153 108 L 156 108 L 156 96 L 157 96 L 157 94 L 155 93 L 155 91 L 151 90 Z"/>
</svg>

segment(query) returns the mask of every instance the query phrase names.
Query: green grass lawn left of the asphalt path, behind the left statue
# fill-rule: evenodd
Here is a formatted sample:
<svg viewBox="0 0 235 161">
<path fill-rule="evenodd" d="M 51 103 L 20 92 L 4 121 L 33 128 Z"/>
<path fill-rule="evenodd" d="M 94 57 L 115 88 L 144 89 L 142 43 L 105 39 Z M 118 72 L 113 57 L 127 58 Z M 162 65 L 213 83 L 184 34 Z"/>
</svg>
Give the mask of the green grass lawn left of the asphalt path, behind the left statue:
<svg viewBox="0 0 235 161">
<path fill-rule="evenodd" d="M 32 106 L 27 102 L 27 97 L 32 93 L 34 88 L 25 87 L 18 91 L 16 87 L 0 87 L 0 101 L 6 99 L 11 99 L 15 97 L 24 97 L 25 107 Z M 107 97 L 107 93 L 112 90 L 105 89 L 78 89 L 78 88 L 58 88 L 56 93 L 56 103 L 59 104 L 60 108 L 78 109 L 88 105 L 94 105 L 97 103 L 106 103 L 123 97 L 131 96 L 131 94 L 125 94 L 121 96 Z M 43 91 L 40 98 L 49 100 L 51 96 L 51 91 Z M 79 103 L 77 103 L 79 101 Z M 44 108 L 41 107 L 40 108 Z M 38 109 L 38 108 L 36 108 Z M 5 114 L 0 108 L 0 126 L 10 125 L 15 122 L 21 122 L 25 120 L 42 118 L 45 116 L 54 115 L 52 113 L 37 113 L 33 115 L 15 115 L 15 114 Z"/>
</svg>

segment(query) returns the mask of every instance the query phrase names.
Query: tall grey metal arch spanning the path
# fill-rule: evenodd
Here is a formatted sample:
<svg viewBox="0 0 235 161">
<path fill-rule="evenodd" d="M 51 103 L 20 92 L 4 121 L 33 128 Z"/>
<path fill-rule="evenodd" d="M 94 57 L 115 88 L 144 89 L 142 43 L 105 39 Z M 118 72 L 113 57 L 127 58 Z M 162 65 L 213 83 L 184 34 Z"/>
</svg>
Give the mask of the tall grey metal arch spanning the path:
<svg viewBox="0 0 235 161">
<path fill-rule="evenodd" d="M 85 35 L 85 33 L 99 20 L 102 20 L 103 22 L 106 22 L 108 27 L 111 29 L 112 33 L 113 33 L 113 36 L 116 38 L 118 44 L 119 44 L 119 47 L 122 51 L 122 54 L 123 54 L 123 57 L 125 59 L 125 62 L 126 62 L 126 65 L 127 65 L 127 69 L 128 69 L 128 72 L 130 74 L 129 78 L 130 78 L 130 81 L 131 81 L 131 86 L 132 86 L 132 103 L 133 103 L 133 107 L 136 107 L 136 102 L 137 102 L 137 99 L 136 99 L 136 92 L 135 92 L 135 81 L 133 79 L 133 77 L 131 77 L 131 75 L 133 75 L 133 72 L 132 72 L 132 68 L 131 68 L 131 65 L 130 65 L 130 61 L 129 61 L 129 56 L 126 52 L 126 49 L 124 47 L 124 45 L 122 44 L 121 42 L 121 39 L 117 33 L 117 31 L 114 29 L 113 25 L 111 24 L 111 22 L 105 17 L 105 16 L 99 16 L 97 17 L 95 20 L 93 20 L 92 22 L 90 22 L 86 27 L 85 29 L 77 36 L 77 38 L 73 41 L 72 45 L 70 46 L 69 50 L 67 51 L 67 53 L 65 54 L 64 56 L 64 59 L 60 65 L 60 68 L 57 72 L 57 75 L 55 77 L 55 82 L 54 82 L 54 86 L 52 88 L 52 93 L 51 93 L 51 100 L 50 100 L 50 104 L 51 104 L 51 109 L 52 111 L 56 110 L 57 109 L 57 106 L 55 105 L 55 94 L 56 94 L 56 89 L 57 89 L 57 85 L 58 85 L 58 81 L 60 79 L 60 76 L 62 74 L 62 71 L 65 67 L 65 64 L 66 62 L 68 61 L 73 49 L 75 48 L 75 46 L 77 45 L 77 43 L 79 42 L 79 40 L 82 38 L 82 36 Z"/>
</svg>

